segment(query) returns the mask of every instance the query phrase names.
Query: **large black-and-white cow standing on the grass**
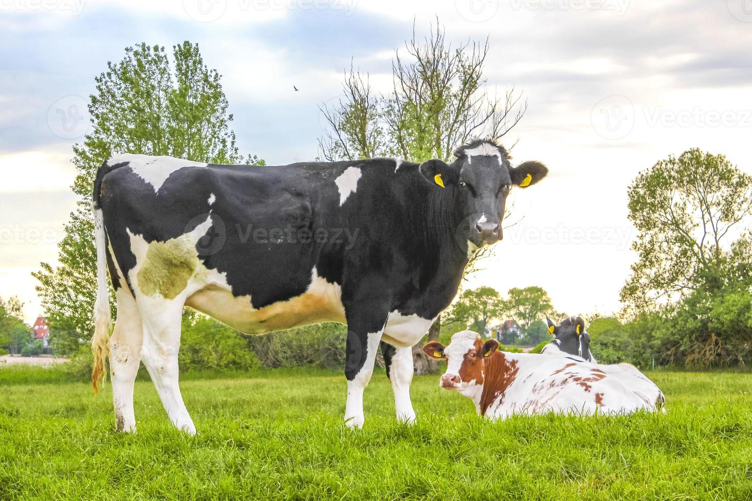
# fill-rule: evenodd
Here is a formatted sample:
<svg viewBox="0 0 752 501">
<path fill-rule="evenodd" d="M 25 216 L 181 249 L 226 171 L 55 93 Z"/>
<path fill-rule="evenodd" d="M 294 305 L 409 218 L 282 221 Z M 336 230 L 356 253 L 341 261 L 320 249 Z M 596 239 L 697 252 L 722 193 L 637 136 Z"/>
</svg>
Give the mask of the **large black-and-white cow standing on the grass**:
<svg viewBox="0 0 752 501">
<path fill-rule="evenodd" d="M 133 382 L 147 367 L 170 420 L 195 433 L 178 387 L 183 306 L 245 333 L 347 323 L 345 421 L 360 427 L 380 342 L 397 418 L 414 421 L 411 346 L 456 294 L 468 255 L 502 238 L 512 168 L 475 141 L 446 164 L 376 158 L 280 167 L 122 155 L 94 183 L 98 293 L 92 379 L 110 354 L 118 430 L 135 430 Z M 111 312 L 105 267 L 117 298 Z M 109 338 L 109 342 L 108 342 Z"/>
</svg>

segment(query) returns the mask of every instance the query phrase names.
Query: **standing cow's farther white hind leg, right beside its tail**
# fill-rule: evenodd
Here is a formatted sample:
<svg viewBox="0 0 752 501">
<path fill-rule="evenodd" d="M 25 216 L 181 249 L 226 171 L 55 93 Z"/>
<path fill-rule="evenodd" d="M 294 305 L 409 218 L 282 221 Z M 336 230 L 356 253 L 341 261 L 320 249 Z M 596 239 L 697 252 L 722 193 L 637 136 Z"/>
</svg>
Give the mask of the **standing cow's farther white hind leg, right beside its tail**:
<svg viewBox="0 0 752 501">
<path fill-rule="evenodd" d="M 135 431 L 133 413 L 133 383 L 141 364 L 141 313 L 130 291 L 119 288 L 117 321 L 110 337 L 110 378 L 115 409 L 115 429 Z"/>
</svg>

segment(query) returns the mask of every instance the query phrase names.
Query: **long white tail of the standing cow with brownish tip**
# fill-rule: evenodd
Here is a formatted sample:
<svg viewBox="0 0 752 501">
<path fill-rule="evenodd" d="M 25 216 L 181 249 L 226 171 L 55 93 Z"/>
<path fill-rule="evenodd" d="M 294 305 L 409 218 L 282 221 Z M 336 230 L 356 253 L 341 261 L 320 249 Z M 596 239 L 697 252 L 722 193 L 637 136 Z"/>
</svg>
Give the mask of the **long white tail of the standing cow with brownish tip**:
<svg viewBox="0 0 752 501">
<path fill-rule="evenodd" d="M 92 386 L 94 393 L 99 392 L 99 383 L 107 379 L 105 370 L 105 358 L 109 353 L 108 341 L 112 324 L 112 312 L 110 310 L 110 295 L 107 283 L 107 232 L 105 231 L 105 218 L 100 204 L 100 190 L 102 177 L 107 174 L 109 168 L 107 162 L 102 164 L 94 181 L 94 193 L 92 212 L 94 213 L 94 241 L 96 243 L 96 302 L 94 303 L 94 335 L 92 336 L 92 352 L 94 363 L 92 364 Z"/>
</svg>

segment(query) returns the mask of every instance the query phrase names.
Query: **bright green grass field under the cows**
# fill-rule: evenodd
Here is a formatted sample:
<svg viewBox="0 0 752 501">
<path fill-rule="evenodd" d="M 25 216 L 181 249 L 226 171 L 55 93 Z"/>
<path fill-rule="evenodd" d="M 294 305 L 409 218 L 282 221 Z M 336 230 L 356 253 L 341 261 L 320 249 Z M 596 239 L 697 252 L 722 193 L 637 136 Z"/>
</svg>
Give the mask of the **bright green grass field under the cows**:
<svg viewBox="0 0 752 501">
<path fill-rule="evenodd" d="M 752 499 L 748 373 L 649 373 L 667 415 L 496 424 L 416 377 L 405 426 L 377 371 L 362 430 L 342 424 L 344 376 L 326 370 L 186 378 L 189 437 L 149 381 L 123 435 L 109 385 L 95 397 L 29 371 L 0 369 L 0 499 Z"/>
</svg>

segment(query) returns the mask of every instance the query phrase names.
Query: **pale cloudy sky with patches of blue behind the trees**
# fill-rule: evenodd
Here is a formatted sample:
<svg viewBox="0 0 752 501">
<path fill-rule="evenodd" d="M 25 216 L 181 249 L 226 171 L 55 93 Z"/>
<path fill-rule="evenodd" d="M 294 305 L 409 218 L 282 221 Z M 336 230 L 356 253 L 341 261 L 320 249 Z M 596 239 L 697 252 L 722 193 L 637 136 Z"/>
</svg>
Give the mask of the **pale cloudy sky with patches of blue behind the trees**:
<svg viewBox="0 0 752 501">
<path fill-rule="evenodd" d="M 0 296 L 41 312 L 29 273 L 55 262 L 74 207 L 80 110 L 124 47 L 198 42 L 241 150 L 286 164 L 317 155 L 318 105 L 341 95 L 351 60 L 387 90 L 394 50 L 436 15 L 453 41 L 490 38 L 488 86 L 529 104 L 514 157 L 551 171 L 513 192 L 521 221 L 473 286 L 541 285 L 562 312 L 617 311 L 638 171 L 696 146 L 752 172 L 750 0 L 0 0 Z"/>
</svg>

